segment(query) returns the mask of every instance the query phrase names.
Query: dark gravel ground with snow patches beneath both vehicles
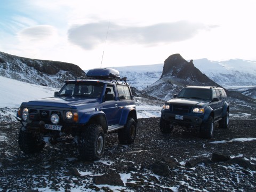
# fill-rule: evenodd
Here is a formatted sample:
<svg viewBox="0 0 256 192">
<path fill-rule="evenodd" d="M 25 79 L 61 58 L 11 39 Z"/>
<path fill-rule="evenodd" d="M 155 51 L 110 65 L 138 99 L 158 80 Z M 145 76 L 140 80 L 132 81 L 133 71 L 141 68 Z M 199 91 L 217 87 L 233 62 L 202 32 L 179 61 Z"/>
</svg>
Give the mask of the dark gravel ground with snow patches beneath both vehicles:
<svg viewBox="0 0 256 192">
<path fill-rule="evenodd" d="M 0 191 L 255 191 L 255 120 L 233 119 L 227 130 L 215 125 L 210 140 L 178 126 L 165 135 L 158 124 L 159 118 L 139 119 L 132 145 L 106 135 L 103 158 L 83 162 L 72 143 L 26 155 L 18 147 L 20 123 L 1 122 Z M 229 160 L 212 161 L 216 153 Z"/>
</svg>

